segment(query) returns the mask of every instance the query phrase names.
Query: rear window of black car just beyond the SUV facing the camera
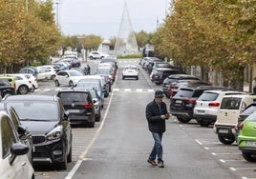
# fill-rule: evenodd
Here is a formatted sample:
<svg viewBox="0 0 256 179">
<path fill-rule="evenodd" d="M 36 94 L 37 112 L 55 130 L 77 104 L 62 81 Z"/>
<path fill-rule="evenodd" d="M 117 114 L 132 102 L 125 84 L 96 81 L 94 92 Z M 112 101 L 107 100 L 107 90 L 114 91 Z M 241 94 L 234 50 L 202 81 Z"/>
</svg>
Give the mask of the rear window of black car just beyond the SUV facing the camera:
<svg viewBox="0 0 256 179">
<path fill-rule="evenodd" d="M 71 102 L 90 102 L 90 96 L 87 92 L 60 92 L 58 97 L 61 99 L 62 103 L 65 105 Z"/>
</svg>

